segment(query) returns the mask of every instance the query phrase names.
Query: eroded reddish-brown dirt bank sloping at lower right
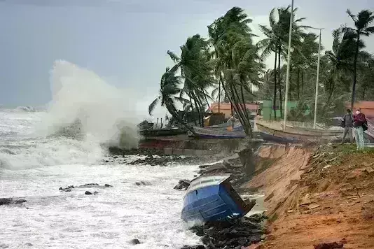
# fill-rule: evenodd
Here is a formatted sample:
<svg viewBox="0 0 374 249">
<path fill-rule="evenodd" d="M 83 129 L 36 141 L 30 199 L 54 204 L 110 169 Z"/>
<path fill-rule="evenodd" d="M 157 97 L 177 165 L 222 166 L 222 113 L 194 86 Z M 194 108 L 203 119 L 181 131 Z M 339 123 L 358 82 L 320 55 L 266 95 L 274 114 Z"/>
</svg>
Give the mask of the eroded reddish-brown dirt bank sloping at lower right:
<svg viewBox="0 0 374 249">
<path fill-rule="evenodd" d="M 354 149 L 289 148 L 242 186 L 259 187 L 266 197 L 269 231 L 261 248 L 309 249 L 332 242 L 374 248 L 374 150 Z"/>
</svg>

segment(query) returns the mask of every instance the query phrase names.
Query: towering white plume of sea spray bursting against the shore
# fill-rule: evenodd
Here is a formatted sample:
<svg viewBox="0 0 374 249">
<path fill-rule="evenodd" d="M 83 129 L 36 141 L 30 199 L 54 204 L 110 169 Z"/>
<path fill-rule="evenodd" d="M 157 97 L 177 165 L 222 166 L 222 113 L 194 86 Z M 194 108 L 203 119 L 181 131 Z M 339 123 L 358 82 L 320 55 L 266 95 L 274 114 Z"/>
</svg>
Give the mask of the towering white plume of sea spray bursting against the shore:
<svg viewBox="0 0 374 249">
<path fill-rule="evenodd" d="M 80 133 L 90 134 L 99 143 L 137 147 L 139 118 L 134 112 L 134 94 L 65 61 L 55 62 L 50 83 L 53 100 L 43 122 L 47 135 L 71 125 L 77 128 L 78 122 Z"/>
</svg>

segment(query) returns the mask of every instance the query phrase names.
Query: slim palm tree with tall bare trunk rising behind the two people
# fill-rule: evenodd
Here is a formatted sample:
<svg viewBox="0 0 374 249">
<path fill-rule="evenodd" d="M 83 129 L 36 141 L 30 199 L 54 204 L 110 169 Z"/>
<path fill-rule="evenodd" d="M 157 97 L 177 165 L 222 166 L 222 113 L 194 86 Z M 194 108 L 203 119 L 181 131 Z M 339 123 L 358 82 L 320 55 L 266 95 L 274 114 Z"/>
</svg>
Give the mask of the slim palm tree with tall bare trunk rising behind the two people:
<svg viewBox="0 0 374 249">
<path fill-rule="evenodd" d="M 370 26 L 370 24 L 374 20 L 374 15 L 370 10 L 361 10 L 357 15 L 353 15 L 351 10 L 349 9 L 347 10 L 347 14 L 352 18 L 354 22 L 354 28 L 343 27 L 343 30 L 352 32 L 354 34 L 354 38 L 356 39 L 356 48 L 353 61 L 353 84 L 351 97 L 351 108 L 353 108 L 357 81 L 357 60 L 359 58 L 361 38 L 363 36 L 370 36 L 370 34 L 374 33 L 374 27 Z"/>
</svg>

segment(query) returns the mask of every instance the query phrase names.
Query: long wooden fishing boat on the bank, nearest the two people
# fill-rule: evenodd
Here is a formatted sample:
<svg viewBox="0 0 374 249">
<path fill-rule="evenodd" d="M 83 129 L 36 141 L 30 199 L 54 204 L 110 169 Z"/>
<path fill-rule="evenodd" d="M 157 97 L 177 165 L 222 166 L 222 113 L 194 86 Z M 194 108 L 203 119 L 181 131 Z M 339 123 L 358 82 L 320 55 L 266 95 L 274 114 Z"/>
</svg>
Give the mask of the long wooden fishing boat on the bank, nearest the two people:
<svg viewBox="0 0 374 249">
<path fill-rule="evenodd" d="M 264 140 L 276 141 L 280 143 L 296 143 L 300 141 L 335 141 L 341 135 L 341 131 L 328 131 L 328 130 L 303 130 L 303 129 L 273 129 L 261 123 L 257 123 L 257 129 Z"/>
</svg>

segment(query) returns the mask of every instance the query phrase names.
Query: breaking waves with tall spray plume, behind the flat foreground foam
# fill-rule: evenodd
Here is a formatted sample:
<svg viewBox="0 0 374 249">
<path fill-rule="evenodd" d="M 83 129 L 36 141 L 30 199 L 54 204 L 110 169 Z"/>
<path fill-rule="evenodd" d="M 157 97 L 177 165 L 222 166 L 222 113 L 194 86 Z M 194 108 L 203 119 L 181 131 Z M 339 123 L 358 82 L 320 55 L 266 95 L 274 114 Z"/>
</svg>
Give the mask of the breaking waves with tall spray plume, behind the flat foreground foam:
<svg viewBox="0 0 374 249">
<path fill-rule="evenodd" d="M 55 62 L 50 81 L 47 111 L 0 110 L 0 169 L 97 164 L 103 144 L 137 147 L 133 93 L 64 61 Z"/>
</svg>

